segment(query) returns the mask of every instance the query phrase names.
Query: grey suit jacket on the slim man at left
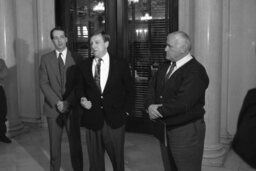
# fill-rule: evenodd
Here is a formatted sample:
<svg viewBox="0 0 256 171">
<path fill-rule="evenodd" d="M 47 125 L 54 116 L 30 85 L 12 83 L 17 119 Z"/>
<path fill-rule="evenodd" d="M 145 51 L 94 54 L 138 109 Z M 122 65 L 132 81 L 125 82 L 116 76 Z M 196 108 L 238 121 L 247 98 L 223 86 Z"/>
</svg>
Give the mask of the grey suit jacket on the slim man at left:
<svg viewBox="0 0 256 171">
<path fill-rule="evenodd" d="M 41 58 L 39 69 L 40 88 L 44 94 L 43 113 L 48 117 L 57 117 L 59 112 L 56 103 L 59 100 L 67 100 L 71 105 L 75 104 L 74 85 L 75 85 L 75 61 L 77 56 L 72 56 L 67 52 L 65 62 L 65 93 L 61 94 L 61 77 L 58 68 L 56 52 L 51 51 Z"/>
</svg>

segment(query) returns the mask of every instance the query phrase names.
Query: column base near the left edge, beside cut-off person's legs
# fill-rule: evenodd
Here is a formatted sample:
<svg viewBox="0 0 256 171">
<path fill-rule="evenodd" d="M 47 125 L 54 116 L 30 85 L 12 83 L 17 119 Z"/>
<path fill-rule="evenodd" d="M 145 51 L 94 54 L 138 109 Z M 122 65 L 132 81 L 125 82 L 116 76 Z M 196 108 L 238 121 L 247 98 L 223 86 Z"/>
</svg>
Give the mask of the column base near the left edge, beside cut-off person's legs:
<svg viewBox="0 0 256 171">
<path fill-rule="evenodd" d="M 6 125 L 7 125 L 7 136 L 10 138 L 19 136 L 29 131 L 29 127 L 24 126 L 24 124 L 19 120 L 7 121 Z"/>
</svg>

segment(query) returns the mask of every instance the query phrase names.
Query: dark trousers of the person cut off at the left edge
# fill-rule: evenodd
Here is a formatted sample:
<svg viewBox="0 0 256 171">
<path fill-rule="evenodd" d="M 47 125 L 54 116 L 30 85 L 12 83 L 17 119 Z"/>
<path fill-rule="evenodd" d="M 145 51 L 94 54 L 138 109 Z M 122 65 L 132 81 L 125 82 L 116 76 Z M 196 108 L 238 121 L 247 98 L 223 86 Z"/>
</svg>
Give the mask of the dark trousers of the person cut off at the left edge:
<svg viewBox="0 0 256 171">
<path fill-rule="evenodd" d="M 6 115 L 7 115 L 7 104 L 4 88 L 0 85 L 0 136 L 6 134 Z"/>
</svg>

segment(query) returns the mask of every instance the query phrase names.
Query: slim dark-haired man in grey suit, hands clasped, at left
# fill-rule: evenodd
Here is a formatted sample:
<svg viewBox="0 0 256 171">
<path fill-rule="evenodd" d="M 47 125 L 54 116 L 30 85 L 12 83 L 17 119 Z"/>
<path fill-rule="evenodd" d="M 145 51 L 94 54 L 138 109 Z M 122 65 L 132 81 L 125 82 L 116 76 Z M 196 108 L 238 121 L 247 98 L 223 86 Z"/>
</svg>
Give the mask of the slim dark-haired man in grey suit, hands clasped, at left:
<svg viewBox="0 0 256 171">
<path fill-rule="evenodd" d="M 77 56 L 67 49 L 63 29 L 56 27 L 50 33 L 55 50 L 41 58 L 40 88 L 44 94 L 44 114 L 47 118 L 50 140 L 50 170 L 59 171 L 61 165 L 61 139 L 66 128 L 72 167 L 83 170 L 80 137 L 80 116 L 74 98 Z M 79 104 L 79 103 L 78 103 Z"/>
</svg>

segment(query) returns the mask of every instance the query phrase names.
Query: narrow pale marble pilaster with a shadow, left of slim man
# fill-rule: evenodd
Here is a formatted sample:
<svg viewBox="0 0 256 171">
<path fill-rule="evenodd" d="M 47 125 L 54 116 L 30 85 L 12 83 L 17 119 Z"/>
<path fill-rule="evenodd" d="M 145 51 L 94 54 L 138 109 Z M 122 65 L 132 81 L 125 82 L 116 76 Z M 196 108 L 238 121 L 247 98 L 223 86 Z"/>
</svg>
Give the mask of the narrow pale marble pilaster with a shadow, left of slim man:
<svg viewBox="0 0 256 171">
<path fill-rule="evenodd" d="M 24 122 L 40 123 L 37 1 L 16 0 L 15 7 L 19 113 Z"/>
</svg>

